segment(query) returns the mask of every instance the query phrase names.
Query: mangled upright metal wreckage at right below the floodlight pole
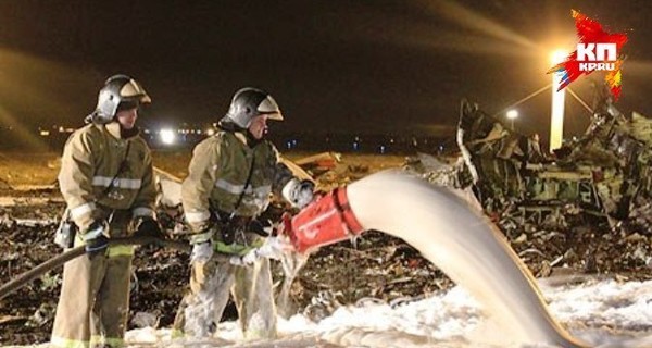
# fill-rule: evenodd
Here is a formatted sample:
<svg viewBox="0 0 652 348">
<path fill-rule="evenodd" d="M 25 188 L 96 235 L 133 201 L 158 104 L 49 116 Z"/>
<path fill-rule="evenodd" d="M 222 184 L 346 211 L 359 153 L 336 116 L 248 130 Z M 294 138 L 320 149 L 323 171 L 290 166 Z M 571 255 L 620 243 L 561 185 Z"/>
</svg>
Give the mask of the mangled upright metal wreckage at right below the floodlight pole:
<svg viewBox="0 0 652 348">
<path fill-rule="evenodd" d="M 503 231 L 590 224 L 644 233 L 652 225 L 652 120 L 623 114 L 607 92 L 595 100 L 586 133 L 554 153 L 541 150 L 537 135 L 517 134 L 463 100 L 457 163 L 424 176 L 471 187 Z"/>
</svg>

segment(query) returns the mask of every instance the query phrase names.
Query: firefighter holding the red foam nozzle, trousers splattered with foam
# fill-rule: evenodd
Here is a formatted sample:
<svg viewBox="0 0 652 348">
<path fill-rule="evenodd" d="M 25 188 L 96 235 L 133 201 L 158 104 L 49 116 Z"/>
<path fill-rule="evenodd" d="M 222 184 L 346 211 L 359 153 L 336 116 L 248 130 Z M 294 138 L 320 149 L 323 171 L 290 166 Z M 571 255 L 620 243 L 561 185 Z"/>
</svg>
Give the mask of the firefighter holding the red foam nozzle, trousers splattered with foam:
<svg viewBox="0 0 652 348">
<path fill-rule="evenodd" d="M 214 333 L 230 293 L 244 338 L 276 337 L 269 260 L 234 260 L 272 240 L 256 220 L 271 194 L 302 208 L 313 199 L 314 184 L 294 177 L 279 161 L 265 139 L 269 120 L 283 120 L 274 98 L 242 88 L 218 122 L 220 132 L 193 150 L 181 186 L 185 219 L 195 233 L 190 291 L 177 311 L 174 336 Z"/>
</svg>

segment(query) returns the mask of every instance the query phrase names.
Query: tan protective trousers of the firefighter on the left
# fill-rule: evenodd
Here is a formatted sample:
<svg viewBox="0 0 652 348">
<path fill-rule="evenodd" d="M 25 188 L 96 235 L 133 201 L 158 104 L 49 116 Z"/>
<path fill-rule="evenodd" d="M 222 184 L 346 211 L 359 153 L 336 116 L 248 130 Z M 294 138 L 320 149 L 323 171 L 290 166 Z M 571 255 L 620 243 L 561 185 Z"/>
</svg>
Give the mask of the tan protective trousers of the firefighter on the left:
<svg viewBox="0 0 652 348">
<path fill-rule="evenodd" d="M 129 248 L 109 248 L 65 264 L 51 347 L 124 346 L 133 259 Z"/>
</svg>

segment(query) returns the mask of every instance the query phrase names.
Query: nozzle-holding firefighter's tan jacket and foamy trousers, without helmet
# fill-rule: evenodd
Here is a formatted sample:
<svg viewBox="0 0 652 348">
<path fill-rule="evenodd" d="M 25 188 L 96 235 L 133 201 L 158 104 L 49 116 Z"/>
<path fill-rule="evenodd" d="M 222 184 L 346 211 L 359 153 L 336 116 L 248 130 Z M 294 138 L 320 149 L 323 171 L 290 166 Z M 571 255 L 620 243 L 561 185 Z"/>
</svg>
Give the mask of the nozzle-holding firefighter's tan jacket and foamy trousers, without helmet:
<svg viewBox="0 0 652 348">
<path fill-rule="evenodd" d="M 220 132 L 200 142 L 192 154 L 188 177 L 181 187 L 186 221 L 197 235 L 211 225 L 215 214 L 229 226 L 216 228 L 212 244 L 217 256 L 206 262 L 193 262 L 190 293 L 184 297 L 175 318 L 175 334 L 195 337 L 210 334 L 220 322 L 233 294 L 239 322 L 248 338 L 276 336 L 276 310 L 272 290 L 269 260 L 258 260 L 250 266 L 235 266 L 223 254 L 243 254 L 260 246 L 260 235 L 248 227 L 233 227 L 237 220 L 249 221 L 262 213 L 272 192 L 283 196 L 286 184 L 296 179 L 280 162 L 274 145 L 251 140 L 240 132 Z M 251 177 L 250 177 L 251 176 Z M 249 178 L 249 185 L 248 184 Z M 224 216 L 226 215 L 226 216 Z M 227 234 L 240 229 L 233 241 Z M 209 228 L 212 231 L 213 228 Z"/>
</svg>

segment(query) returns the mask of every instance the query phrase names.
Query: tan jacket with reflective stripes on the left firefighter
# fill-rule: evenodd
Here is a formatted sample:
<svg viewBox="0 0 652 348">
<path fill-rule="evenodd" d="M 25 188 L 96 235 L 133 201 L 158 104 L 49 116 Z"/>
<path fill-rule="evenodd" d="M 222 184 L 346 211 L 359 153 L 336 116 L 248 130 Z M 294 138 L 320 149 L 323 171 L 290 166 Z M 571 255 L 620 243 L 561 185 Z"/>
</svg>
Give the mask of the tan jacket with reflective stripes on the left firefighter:
<svg viewBox="0 0 652 348">
<path fill-rule="evenodd" d="M 126 163 L 118 173 L 125 154 Z M 59 172 L 61 194 L 82 232 L 93 219 L 105 217 L 106 211 L 100 207 L 129 209 L 135 216 L 153 215 L 156 191 L 152 178 L 149 147 L 138 135 L 121 138 L 116 122 L 88 124 L 74 132 Z M 111 189 L 104 192 L 108 187 Z"/>
</svg>

